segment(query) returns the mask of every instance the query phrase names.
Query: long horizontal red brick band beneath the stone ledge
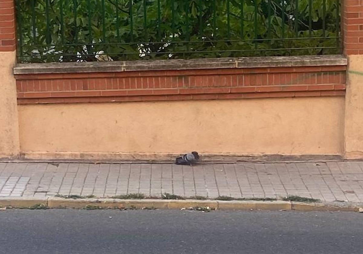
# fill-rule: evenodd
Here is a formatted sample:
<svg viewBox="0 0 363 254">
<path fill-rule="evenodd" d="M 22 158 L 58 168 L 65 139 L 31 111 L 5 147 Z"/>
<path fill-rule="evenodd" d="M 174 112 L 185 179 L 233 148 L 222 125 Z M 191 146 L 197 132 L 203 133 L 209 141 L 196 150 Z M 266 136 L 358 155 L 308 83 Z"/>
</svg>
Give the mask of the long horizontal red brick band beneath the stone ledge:
<svg viewBox="0 0 363 254">
<path fill-rule="evenodd" d="M 19 104 L 340 96 L 346 66 L 17 74 Z"/>
</svg>

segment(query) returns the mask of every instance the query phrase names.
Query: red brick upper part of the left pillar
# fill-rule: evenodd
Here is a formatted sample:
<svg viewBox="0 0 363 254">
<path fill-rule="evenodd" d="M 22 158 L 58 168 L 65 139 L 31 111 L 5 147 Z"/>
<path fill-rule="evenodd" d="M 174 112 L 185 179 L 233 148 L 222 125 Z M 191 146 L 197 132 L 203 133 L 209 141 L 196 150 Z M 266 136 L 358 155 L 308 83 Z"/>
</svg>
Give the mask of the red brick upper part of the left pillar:
<svg viewBox="0 0 363 254">
<path fill-rule="evenodd" d="M 0 52 L 14 51 L 15 10 L 13 0 L 0 1 Z"/>
</svg>

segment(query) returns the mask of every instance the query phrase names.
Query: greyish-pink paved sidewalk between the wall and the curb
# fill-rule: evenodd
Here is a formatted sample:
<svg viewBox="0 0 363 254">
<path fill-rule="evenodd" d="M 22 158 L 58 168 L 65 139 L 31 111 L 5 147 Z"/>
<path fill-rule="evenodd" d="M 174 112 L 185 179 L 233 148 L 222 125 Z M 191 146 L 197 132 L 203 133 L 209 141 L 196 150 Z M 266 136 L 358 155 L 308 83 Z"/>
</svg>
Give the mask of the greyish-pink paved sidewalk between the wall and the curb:
<svg viewBox="0 0 363 254">
<path fill-rule="evenodd" d="M 363 162 L 172 164 L 0 163 L 0 197 L 127 193 L 231 197 L 297 195 L 363 202 Z"/>
</svg>

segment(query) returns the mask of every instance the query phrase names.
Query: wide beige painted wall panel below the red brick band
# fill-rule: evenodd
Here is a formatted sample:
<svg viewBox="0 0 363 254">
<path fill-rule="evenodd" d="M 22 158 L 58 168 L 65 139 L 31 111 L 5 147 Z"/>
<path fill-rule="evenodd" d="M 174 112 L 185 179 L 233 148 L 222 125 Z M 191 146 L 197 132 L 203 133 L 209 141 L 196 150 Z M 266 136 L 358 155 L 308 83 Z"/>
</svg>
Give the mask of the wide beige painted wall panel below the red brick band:
<svg viewBox="0 0 363 254">
<path fill-rule="evenodd" d="M 19 121 L 31 158 L 321 155 L 344 144 L 343 97 L 19 105 Z"/>
</svg>

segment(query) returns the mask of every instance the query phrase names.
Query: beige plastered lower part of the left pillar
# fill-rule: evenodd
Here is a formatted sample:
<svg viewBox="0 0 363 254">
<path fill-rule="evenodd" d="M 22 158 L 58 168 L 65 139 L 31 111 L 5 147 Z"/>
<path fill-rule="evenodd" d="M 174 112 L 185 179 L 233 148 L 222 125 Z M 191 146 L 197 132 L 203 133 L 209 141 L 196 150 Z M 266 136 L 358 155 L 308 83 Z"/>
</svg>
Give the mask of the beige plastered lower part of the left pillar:
<svg viewBox="0 0 363 254">
<path fill-rule="evenodd" d="M 0 52 L 0 158 L 19 155 L 15 59 L 15 52 Z"/>
</svg>

